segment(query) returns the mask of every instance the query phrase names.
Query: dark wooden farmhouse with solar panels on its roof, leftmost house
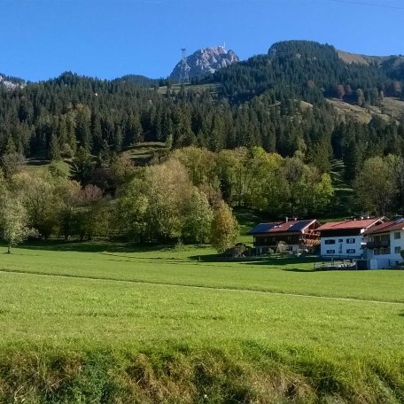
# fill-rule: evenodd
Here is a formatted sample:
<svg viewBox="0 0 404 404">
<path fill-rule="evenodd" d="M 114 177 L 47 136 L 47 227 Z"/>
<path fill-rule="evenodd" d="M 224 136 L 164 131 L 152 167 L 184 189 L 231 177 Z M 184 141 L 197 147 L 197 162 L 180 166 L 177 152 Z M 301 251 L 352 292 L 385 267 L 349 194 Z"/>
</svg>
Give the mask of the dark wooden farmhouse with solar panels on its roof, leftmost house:
<svg viewBox="0 0 404 404">
<path fill-rule="evenodd" d="M 257 255 L 267 253 L 269 249 L 276 250 L 279 242 L 284 242 L 287 251 L 297 253 L 301 250 L 313 251 L 320 243 L 317 229 L 320 223 L 315 219 L 307 221 L 274 221 L 260 223 L 251 229 L 254 247 Z"/>
</svg>

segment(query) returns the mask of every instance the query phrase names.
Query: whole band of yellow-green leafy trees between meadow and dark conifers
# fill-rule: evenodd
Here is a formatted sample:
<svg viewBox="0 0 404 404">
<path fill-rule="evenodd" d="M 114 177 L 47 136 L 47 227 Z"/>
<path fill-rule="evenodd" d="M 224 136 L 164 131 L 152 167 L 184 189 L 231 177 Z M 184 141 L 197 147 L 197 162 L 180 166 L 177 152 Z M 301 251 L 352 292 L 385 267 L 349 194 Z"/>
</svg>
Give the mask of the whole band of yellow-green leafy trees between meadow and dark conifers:
<svg viewBox="0 0 404 404">
<path fill-rule="evenodd" d="M 210 242 L 224 251 L 238 234 L 232 208 L 260 211 L 268 220 L 319 218 L 334 210 L 340 181 L 338 165 L 329 175 L 299 153 L 284 158 L 260 147 L 167 150 L 146 167 L 136 167 L 128 153 L 103 167 L 84 149 L 77 156 L 68 174 L 56 163 L 17 167 L 7 176 L 0 171 L 0 229 L 9 245 L 27 237 L 103 237 Z M 356 212 L 403 213 L 402 157 L 366 159 L 353 185 L 349 203 Z"/>
</svg>

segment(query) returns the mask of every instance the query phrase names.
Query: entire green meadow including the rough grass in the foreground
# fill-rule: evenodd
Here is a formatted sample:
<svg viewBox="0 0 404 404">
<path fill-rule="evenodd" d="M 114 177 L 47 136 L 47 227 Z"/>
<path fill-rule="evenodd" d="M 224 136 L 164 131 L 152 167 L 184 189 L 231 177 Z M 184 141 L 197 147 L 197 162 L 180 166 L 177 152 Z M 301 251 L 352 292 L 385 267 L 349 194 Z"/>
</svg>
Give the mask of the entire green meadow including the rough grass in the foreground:
<svg viewBox="0 0 404 404">
<path fill-rule="evenodd" d="M 402 402 L 404 272 L 314 260 L 4 248 L 0 401 Z"/>
</svg>

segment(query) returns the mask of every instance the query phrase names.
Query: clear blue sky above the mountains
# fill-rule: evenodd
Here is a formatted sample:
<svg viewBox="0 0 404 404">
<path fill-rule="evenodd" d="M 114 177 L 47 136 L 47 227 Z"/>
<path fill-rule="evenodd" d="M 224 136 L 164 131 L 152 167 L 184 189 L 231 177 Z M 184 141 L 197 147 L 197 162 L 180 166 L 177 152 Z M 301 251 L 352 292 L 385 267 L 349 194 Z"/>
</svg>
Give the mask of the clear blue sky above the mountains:
<svg viewBox="0 0 404 404">
<path fill-rule="evenodd" d="M 404 0 L 0 0 L 0 72 L 167 77 L 188 53 L 226 44 L 242 58 L 288 39 L 404 54 Z"/>
</svg>

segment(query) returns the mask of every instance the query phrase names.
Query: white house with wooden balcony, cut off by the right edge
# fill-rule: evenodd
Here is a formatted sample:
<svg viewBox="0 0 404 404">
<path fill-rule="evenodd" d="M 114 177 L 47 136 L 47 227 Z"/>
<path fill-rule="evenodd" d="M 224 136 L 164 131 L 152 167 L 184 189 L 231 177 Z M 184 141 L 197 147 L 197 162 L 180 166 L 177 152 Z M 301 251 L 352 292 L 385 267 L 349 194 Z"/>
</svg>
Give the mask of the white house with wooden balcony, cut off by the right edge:
<svg viewBox="0 0 404 404">
<path fill-rule="evenodd" d="M 402 262 L 404 219 L 386 221 L 365 231 L 369 269 L 392 268 Z"/>
</svg>

